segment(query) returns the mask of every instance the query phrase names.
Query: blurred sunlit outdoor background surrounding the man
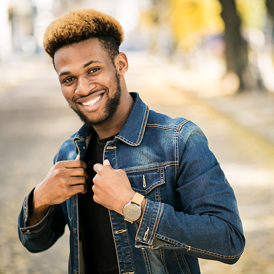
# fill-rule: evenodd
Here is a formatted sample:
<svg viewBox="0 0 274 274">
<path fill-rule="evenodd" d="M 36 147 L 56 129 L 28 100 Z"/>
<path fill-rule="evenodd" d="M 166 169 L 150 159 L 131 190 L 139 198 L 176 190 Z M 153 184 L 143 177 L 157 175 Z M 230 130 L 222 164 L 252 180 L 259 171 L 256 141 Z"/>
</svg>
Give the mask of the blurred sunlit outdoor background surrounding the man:
<svg viewBox="0 0 274 274">
<path fill-rule="evenodd" d="M 0 274 L 65 274 L 68 231 L 30 254 L 17 236 L 24 197 L 81 123 L 42 46 L 75 8 L 122 24 L 128 90 L 150 109 L 198 124 L 235 190 L 247 238 L 233 266 L 203 274 L 274 274 L 274 0 L 0 0 Z"/>
</svg>

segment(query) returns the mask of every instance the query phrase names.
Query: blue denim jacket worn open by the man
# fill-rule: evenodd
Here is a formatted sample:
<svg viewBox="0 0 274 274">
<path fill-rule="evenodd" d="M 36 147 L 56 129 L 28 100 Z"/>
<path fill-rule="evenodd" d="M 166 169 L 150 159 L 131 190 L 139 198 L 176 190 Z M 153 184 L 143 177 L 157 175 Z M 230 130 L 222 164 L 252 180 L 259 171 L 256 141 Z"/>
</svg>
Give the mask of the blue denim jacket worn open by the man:
<svg viewBox="0 0 274 274">
<path fill-rule="evenodd" d="M 206 137 L 189 120 L 149 111 L 136 93 L 131 95 L 135 105 L 103 154 L 146 198 L 140 224 L 109 210 L 120 274 L 199 274 L 197 258 L 236 263 L 245 246 L 242 223 L 233 189 Z M 78 153 L 83 160 L 91 134 L 83 125 L 62 144 L 55 162 Z M 28 197 L 18 218 L 22 244 L 30 252 L 46 250 L 67 224 L 69 274 L 84 273 L 78 195 L 51 206 L 31 227 L 25 225 Z"/>
</svg>

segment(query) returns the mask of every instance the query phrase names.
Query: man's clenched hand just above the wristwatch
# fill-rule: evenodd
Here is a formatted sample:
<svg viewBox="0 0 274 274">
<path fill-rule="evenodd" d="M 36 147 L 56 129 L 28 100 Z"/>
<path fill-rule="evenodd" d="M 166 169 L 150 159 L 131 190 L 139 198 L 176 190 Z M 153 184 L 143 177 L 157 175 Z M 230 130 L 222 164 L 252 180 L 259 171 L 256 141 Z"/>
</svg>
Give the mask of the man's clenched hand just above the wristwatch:
<svg viewBox="0 0 274 274">
<path fill-rule="evenodd" d="M 109 160 L 94 165 L 97 172 L 92 187 L 96 203 L 123 215 L 122 207 L 134 196 L 135 191 L 123 169 L 113 169 Z"/>
</svg>

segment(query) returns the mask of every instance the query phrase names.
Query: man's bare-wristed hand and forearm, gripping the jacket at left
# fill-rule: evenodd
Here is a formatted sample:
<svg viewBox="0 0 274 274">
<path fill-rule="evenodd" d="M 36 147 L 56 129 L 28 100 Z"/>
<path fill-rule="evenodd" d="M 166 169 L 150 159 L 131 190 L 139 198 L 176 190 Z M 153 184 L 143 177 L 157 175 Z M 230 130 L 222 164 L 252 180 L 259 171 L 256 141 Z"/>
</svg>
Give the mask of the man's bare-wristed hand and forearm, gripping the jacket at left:
<svg viewBox="0 0 274 274">
<path fill-rule="evenodd" d="M 86 168 L 87 165 L 78 159 L 57 162 L 34 189 L 32 203 L 29 201 L 29 220 L 26 225 L 39 223 L 49 206 L 60 204 L 77 193 L 86 193 Z"/>
</svg>

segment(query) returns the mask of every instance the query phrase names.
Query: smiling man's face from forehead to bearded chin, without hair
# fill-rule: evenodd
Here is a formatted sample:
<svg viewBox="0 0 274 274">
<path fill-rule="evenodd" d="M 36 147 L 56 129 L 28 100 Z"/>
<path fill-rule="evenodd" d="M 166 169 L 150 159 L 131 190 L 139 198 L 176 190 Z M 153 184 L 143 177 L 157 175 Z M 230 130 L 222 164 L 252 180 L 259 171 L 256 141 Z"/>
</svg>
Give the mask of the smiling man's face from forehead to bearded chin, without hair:
<svg viewBox="0 0 274 274">
<path fill-rule="evenodd" d="M 65 99 L 87 126 L 112 120 L 121 101 L 120 79 L 98 39 L 60 48 L 54 65 Z"/>
</svg>

